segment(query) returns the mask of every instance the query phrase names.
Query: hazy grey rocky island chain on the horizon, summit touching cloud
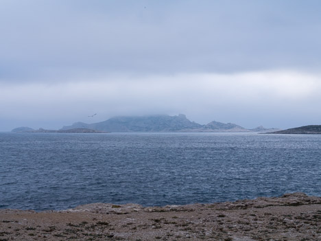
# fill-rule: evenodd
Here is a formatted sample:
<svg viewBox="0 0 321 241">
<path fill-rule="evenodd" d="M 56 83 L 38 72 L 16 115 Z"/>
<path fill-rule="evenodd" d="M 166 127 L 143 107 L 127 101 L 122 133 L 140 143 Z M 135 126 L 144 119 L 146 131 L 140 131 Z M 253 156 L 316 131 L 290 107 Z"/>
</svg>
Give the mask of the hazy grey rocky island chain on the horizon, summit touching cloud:
<svg viewBox="0 0 321 241">
<path fill-rule="evenodd" d="M 171 133 L 171 132 L 211 132 L 211 133 L 268 133 L 280 130 L 278 128 L 264 128 L 259 126 L 253 129 L 243 128 L 233 123 L 209 122 L 198 124 L 191 122 L 185 115 L 150 115 L 112 117 L 104 122 L 86 124 L 75 122 L 71 126 L 63 126 L 60 130 L 34 130 L 29 127 L 14 128 L 12 132 L 23 133 Z"/>
</svg>

